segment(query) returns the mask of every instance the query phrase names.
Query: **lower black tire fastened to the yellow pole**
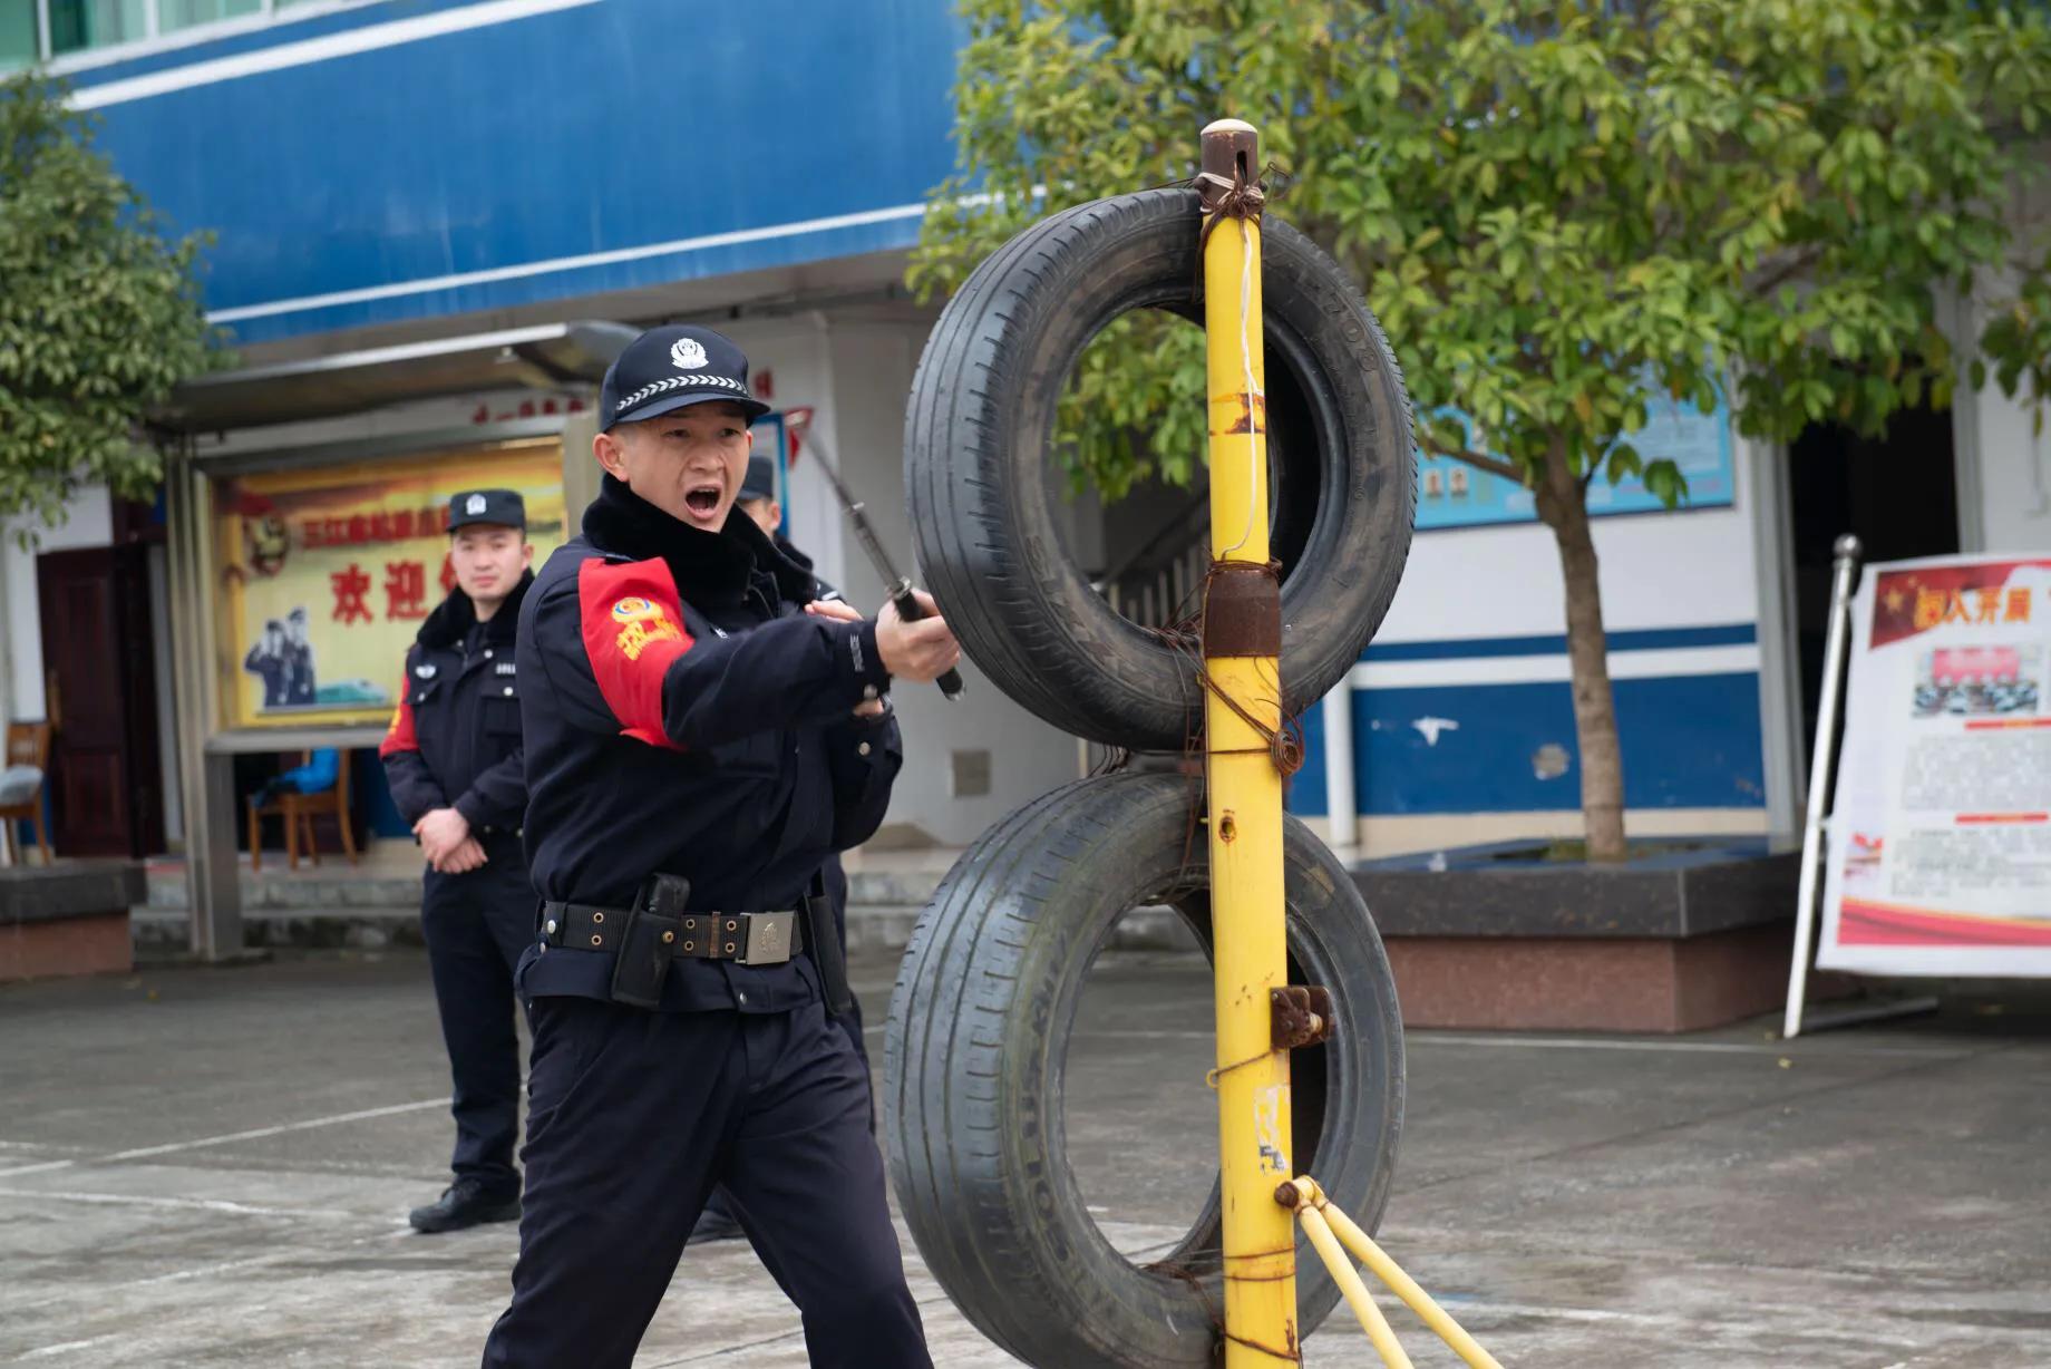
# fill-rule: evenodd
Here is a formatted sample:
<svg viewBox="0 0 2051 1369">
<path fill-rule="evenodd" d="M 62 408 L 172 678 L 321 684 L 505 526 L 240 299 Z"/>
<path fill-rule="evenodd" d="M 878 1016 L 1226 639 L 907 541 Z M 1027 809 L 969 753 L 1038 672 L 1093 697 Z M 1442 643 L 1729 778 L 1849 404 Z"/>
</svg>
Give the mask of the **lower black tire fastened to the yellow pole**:
<svg viewBox="0 0 2051 1369">
<path fill-rule="evenodd" d="M 1173 903 L 1208 946 L 1196 798 L 1179 776 L 1124 774 L 1054 790 L 991 827 L 921 915 L 890 998 L 884 1127 L 898 1205 L 962 1314 L 1028 1365 L 1216 1363 L 1216 1186 L 1188 1238 L 1136 1266 L 1089 1217 L 1062 1117 L 1083 979 L 1118 917 Z M 1331 989 L 1339 1024 L 1292 1059 L 1296 1170 L 1372 1229 L 1403 1125 L 1395 981 L 1352 878 L 1286 821 L 1290 979 Z M 1309 1334 L 1337 1289 L 1300 1236 L 1296 1279 Z"/>
</svg>

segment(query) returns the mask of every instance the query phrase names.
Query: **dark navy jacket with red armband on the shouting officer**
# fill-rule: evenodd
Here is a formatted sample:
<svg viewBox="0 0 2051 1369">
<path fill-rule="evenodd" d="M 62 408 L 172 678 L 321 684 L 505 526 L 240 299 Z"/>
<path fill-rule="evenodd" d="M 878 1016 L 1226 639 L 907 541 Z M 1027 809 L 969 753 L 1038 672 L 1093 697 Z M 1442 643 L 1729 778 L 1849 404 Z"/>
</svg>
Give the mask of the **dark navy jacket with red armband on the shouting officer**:
<svg viewBox="0 0 2051 1369">
<path fill-rule="evenodd" d="M 882 823 L 896 720 L 853 708 L 890 683 L 874 622 L 812 618 L 812 575 L 740 511 L 689 527 L 611 476 L 582 536 L 521 605 L 527 862 L 544 899 L 628 907 L 652 872 L 693 911 L 796 907 L 835 852 Z M 609 952 L 533 946 L 527 998 L 609 998 Z M 665 1010 L 786 1012 L 810 956 L 677 956 Z"/>
</svg>

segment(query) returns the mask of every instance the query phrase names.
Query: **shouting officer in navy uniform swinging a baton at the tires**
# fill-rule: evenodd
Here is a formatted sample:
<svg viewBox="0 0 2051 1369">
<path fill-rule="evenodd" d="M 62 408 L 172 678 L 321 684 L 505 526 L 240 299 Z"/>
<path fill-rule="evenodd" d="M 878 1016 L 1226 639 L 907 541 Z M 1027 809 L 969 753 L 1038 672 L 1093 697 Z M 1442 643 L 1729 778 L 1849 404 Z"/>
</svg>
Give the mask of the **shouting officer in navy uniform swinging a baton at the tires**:
<svg viewBox="0 0 2051 1369">
<path fill-rule="evenodd" d="M 527 1195 L 486 1365 L 628 1369 L 706 1197 L 804 1318 L 820 1369 L 929 1367 L 868 1131 L 827 858 L 882 823 L 884 692 L 960 659 L 861 620 L 734 509 L 747 357 L 708 328 L 613 363 L 582 536 L 521 610 L 539 944 Z M 716 1299 L 681 1309 L 716 1320 Z"/>
</svg>

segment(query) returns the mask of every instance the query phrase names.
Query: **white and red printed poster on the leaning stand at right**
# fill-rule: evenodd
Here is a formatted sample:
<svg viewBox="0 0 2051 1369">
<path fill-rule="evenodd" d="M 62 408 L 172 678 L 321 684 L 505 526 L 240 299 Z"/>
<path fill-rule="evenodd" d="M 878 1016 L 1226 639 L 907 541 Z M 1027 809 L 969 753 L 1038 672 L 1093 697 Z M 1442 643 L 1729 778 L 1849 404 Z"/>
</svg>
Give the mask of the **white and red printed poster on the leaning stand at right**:
<svg viewBox="0 0 2051 1369">
<path fill-rule="evenodd" d="M 2051 975 L 2051 556 L 1866 569 L 1817 965 Z"/>
</svg>

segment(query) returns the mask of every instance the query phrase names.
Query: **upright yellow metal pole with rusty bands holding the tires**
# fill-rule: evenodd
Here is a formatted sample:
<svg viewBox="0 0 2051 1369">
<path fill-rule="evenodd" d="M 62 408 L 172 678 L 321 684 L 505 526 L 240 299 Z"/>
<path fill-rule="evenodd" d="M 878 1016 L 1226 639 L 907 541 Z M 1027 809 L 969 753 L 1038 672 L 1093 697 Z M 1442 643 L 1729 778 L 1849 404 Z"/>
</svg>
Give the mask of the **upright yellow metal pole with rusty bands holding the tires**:
<svg viewBox="0 0 2051 1369">
<path fill-rule="evenodd" d="M 1202 148 L 1206 205 L 1226 203 L 1204 246 L 1210 554 L 1222 562 L 1204 599 L 1204 665 L 1212 681 L 1204 692 L 1204 751 L 1218 1018 L 1224 1365 L 1270 1369 L 1300 1361 L 1296 1231 L 1274 1201 L 1276 1182 L 1294 1172 L 1288 1053 L 1272 1045 L 1268 998 L 1288 983 L 1282 774 L 1263 735 L 1263 729 L 1272 735 L 1282 722 L 1276 675 L 1282 605 L 1280 587 L 1268 573 L 1259 218 L 1235 216 L 1229 203 L 1229 191 L 1253 187 L 1259 177 L 1259 135 L 1247 123 L 1220 119 L 1204 129 Z"/>
</svg>

